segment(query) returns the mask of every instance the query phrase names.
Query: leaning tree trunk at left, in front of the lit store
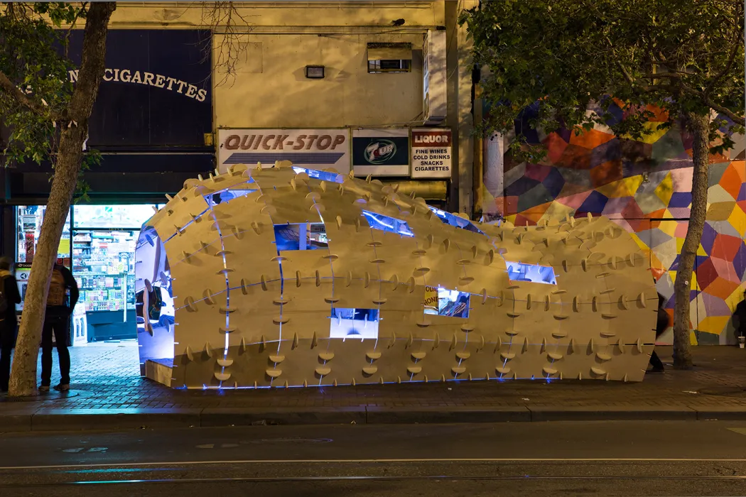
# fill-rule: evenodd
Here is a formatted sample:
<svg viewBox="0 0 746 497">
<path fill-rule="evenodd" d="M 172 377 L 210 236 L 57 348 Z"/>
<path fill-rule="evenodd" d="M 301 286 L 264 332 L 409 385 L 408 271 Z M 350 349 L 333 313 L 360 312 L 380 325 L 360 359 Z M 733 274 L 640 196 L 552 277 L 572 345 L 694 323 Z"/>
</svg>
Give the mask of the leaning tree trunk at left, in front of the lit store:
<svg viewBox="0 0 746 497">
<path fill-rule="evenodd" d="M 88 10 L 78 84 L 72 92 L 66 121 L 59 123 L 63 128 L 57 151 L 57 165 L 54 168 L 54 180 L 51 183 L 37 252 L 31 264 L 21 329 L 10 373 L 9 396 L 34 396 L 38 393 L 37 360 L 51 269 L 57 260 L 60 237 L 70 210 L 72 195 L 78 186 L 83 145 L 88 137 L 88 118 L 98 95 L 101 77 L 104 76 L 106 35 L 114 9 L 114 2 L 92 2 Z"/>
</svg>

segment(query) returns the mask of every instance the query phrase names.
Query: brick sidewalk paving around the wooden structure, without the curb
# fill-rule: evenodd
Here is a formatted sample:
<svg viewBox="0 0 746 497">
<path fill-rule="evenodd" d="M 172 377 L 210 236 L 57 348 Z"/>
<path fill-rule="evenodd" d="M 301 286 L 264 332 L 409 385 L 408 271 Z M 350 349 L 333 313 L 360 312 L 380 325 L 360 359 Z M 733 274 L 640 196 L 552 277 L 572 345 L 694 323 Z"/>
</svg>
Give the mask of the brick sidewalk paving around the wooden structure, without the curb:
<svg viewBox="0 0 746 497">
<path fill-rule="evenodd" d="M 136 346 L 74 347 L 72 388 L 80 395 L 44 403 L 62 409 L 561 406 L 746 410 L 746 350 L 698 346 L 694 352 L 695 370 L 667 370 L 663 375 L 648 375 L 642 383 L 491 380 L 217 391 L 171 390 L 140 378 Z M 659 355 L 670 362 L 670 347 L 659 347 Z M 54 364 L 56 368 L 56 357 Z M 57 372 L 55 376 L 53 382 L 58 381 Z M 741 391 L 726 391 L 736 390 L 733 387 Z M 703 389 L 709 393 L 694 393 Z M 0 403 L 0 414 L 7 405 Z"/>
</svg>

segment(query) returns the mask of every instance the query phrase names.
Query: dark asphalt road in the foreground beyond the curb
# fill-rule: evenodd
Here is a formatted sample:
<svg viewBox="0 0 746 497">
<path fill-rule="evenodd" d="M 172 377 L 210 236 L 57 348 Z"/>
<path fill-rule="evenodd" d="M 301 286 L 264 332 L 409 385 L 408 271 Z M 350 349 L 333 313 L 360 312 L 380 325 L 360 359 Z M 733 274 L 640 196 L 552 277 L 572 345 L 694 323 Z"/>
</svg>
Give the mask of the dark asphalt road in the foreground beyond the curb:
<svg viewBox="0 0 746 497">
<path fill-rule="evenodd" d="M 0 436 L 1 496 L 742 496 L 746 422 Z"/>
</svg>

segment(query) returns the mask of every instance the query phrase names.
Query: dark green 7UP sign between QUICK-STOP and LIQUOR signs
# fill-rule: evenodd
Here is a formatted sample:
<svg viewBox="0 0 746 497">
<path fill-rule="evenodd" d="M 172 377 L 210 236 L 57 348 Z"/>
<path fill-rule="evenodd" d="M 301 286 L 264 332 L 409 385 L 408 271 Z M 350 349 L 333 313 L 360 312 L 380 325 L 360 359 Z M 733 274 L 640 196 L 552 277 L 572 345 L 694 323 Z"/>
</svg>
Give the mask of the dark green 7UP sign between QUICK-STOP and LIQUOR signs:
<svg viewBox="0 0 746 497">
<path fill-rule="evenodd" d="M 410 130 L 353 130 L 352 167 L 355 176 L 409 175 Z"/>
</svg>

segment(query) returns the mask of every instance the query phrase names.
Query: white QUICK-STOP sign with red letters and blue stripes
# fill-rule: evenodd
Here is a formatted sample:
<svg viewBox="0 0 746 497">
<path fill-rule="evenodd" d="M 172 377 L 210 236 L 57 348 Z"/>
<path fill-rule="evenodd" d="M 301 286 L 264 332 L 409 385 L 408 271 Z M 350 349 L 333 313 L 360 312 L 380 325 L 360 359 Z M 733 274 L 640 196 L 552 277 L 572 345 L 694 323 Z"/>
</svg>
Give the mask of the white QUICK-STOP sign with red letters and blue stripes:
<svg viewBox="0 0 746 497">
<path fill-rule="evenodd" d="M 234 164 L 271 168 L 275 161 L 289 160 L 292 165 L 309 169 L 334 169 L 350 172 L 349 131 L 344 128 L 322 130 L 218 130 L 218 169 L 228 171 Z"/>
</svg>

